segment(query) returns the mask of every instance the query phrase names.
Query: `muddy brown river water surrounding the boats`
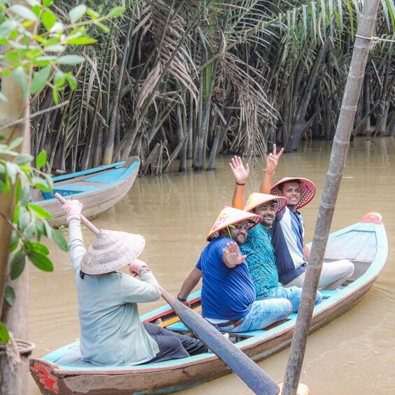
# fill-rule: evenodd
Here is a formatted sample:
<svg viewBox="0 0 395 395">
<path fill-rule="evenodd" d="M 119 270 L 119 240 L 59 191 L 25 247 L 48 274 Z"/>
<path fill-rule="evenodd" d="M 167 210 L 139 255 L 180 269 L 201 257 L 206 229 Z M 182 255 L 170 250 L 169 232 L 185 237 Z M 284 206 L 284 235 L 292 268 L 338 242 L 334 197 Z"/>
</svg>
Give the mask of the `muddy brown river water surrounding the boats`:
<svg viewBox="0 0 395 395">
<path fill-rule="evenodd" d="M 308 142 L 299 152 L 283 155 L 275 180 L 303 176 L 315 182 L 317 195 L 303 210 L 306 240 L 313 238 L 319 200 L 329 164 L 331 144 Z M 382 275 L 363 301 L 347 314 L 309 337 L 302 381 L 312 394 L 395 394 L 393 300 L 395 297 L 395 194 L 394 138 L 351 143 L 331 229 L 358 222 L 377 211 L 384 218 L 389 238 L 389 258 Z M 264 161 L 251 170 L 247 192 L 257 191 Z M 168 173 L 160 178 L 136 180 L 129 194 L 94 224 L 102 229 L 141 233 L 146 238 L 142 259 L 161 285 L 176 294 L 192 270 L 206 235 L 224 204 L 231 203 L 234 179 L 229 157 L 217 159 L 214 171 Z M 88 229 L 85 244 L 93 240 Z M 30 340 L 34 356 L 41 356 L 79 336 L 76 290 L 69 256 L 51 248 L 54 273 L 31 269 Z M 140 305 L 145 313 L 162 301 Z M 278 382 L 283 380 L 288 350 L 260 363 Z M 38 390 L 31 385 L 31 394 Z M 251 394 L 236 376 L 190 389 L 180 394 Z"/>
</svg>

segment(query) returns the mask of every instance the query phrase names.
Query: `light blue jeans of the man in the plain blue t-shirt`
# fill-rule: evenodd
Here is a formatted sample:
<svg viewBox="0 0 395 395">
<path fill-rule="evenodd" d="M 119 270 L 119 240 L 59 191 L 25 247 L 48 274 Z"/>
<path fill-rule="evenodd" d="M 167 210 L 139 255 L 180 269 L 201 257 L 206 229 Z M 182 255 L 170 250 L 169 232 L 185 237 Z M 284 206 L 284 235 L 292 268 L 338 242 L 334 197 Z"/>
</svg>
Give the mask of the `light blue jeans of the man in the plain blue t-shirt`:
<svg viewBox="0 0 395 395">
<path fill-rule="evenodd" d="M 265 299 L 264 301 L 254 301 L 250 312 L 243 317 L 237 326 L 222 326 L 222 332 L 248 332 L 264 329 L 288 317 L 292 311 L 292 304 L 287 299 Z"/>
</svg>

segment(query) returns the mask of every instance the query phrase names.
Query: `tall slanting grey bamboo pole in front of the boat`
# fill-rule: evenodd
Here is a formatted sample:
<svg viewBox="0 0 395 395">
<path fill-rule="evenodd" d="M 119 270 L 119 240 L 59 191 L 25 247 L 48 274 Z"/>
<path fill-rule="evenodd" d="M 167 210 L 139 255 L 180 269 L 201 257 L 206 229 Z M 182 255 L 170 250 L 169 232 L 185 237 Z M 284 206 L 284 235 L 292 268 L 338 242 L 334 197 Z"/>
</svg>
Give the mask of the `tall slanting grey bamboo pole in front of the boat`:
<svg viewBox="0 0 395 395">
<path fill-rule="evenodd" d="M 296 327 L 292 339 L 291 350 L 289 352 L 287 370 L 285 371 L 282 395 L 296 394 L 301 376 L 301 368 L 306 351 L 306 341 L 310 330 L 311 317 L 313 315 L 315 294 L 317 293 L 319 275 L 321 274 L 322 261 L 324 259 L 326 242 L 328 241 L 340 180 L 343 175 L 347 148 L 350 143 L 350 134 L 357 111 L 359 93 L 364 81 L 364 72 L 379 2 L 380 0 L 365 0 L 361 14 L 361 22 L 355 39 L 350 71 L 348 73 L 343 103 L 336 127 L 336 135 L 333 139 L 331 161 L 329 163 L 328 172 L 326 173 L 321 203 L 319 204 L 317 223 L 315 225 L 313 237 L 313 247 L 303 285 L 301 308 L 299 309 L 296 319 Z"/>
</svg>

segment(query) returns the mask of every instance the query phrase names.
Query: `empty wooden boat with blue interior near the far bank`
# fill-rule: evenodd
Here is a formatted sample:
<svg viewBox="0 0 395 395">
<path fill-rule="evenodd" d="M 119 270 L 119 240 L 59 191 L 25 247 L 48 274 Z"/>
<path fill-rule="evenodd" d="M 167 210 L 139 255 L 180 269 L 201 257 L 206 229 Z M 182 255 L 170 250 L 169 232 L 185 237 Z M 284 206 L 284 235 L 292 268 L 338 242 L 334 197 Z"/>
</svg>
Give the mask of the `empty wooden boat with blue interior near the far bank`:
<svg viewBox="0 0 395 395">
<path fill-rule="evenodd" d="M 120 201 L 136 180 L 140 159 L 130 157 L 108 166 L 99 166 L 78 173 L 59 175 L 53 178 L 53 194 L 58 192 L 65 199 L 70 196 L 78 199 L 84 206 L 84 215 L 88 220 L 104 213 Z M 66 215 L 62 205 L 53 194 L 34 189 L 32 202 L 48 210 L 52 227 L 66 225 Z"/>
</svg>

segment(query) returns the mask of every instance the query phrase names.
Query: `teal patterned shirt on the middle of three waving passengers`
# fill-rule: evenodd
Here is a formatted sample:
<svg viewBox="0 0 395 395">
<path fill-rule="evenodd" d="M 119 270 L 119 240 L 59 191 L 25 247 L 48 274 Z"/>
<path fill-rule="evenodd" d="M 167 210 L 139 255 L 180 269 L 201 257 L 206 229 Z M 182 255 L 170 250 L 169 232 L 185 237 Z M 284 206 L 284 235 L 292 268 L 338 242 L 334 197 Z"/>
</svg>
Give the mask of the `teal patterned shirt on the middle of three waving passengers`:
<svg viewBox="0 0 395 395">
<path fill-rule="evenodd" d="M 257 301 L 270 299 L 273 288 L 281 285 L 278 282 L 271 237 L 262 224 L 257 224 L 248 231 L 247 239 L 240 245 L 240 250 L 247 255 L 247 265 L 257 292 Z"/>
</svg>

